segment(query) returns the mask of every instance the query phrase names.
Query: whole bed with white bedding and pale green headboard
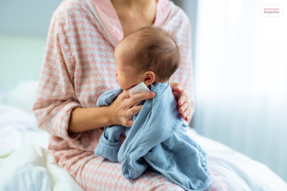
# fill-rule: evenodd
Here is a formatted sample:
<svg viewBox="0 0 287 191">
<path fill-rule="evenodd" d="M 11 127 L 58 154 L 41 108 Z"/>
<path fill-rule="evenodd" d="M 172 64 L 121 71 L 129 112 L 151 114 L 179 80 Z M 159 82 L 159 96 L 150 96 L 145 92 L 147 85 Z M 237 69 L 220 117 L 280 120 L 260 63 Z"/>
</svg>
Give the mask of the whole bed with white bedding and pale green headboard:
<svg viewBox="0 0 287 191">
<path fill-rule="evenodd" d="M 47 150 L 49 134 L 38 129 L 32 113 L 45 38 L 0 36 L 0 42 L 0 191 L 83 191 Z M 187 132 L 204 147 L 209 169 L 230 191 L 287 191 L 286 182 L 264 164 L 194 129 Z"/>
</svg>

